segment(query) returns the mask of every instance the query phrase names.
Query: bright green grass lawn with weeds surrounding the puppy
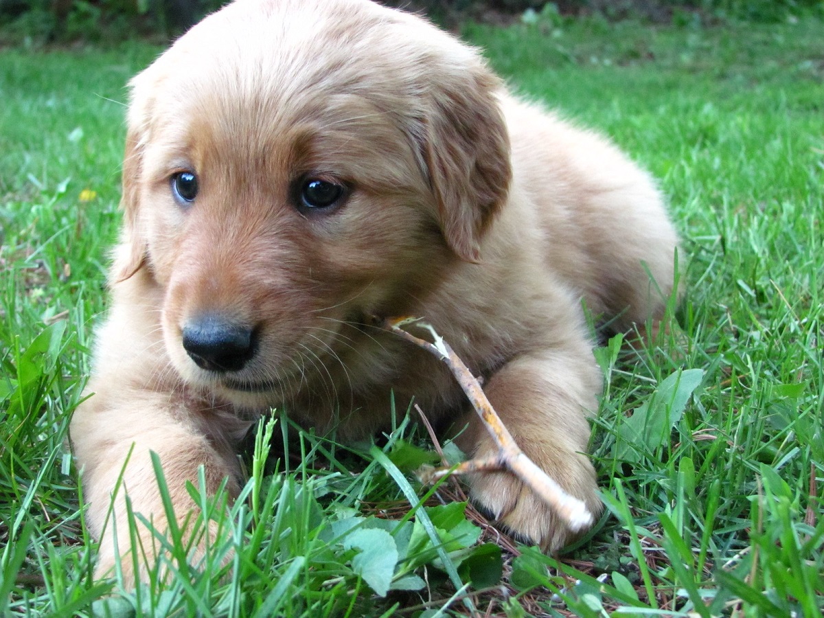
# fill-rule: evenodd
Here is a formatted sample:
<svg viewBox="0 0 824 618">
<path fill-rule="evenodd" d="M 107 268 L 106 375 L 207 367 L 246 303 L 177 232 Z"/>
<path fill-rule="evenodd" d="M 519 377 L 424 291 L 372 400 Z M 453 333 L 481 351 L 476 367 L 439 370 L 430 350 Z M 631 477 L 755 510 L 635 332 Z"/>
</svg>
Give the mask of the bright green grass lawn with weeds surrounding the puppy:
<svg viewBox="0 0 824 618">
<path fill-rule="evenodd" d="M 507 592 L 499 550 L 482 544 L 494 536 L 467 522 L 471 508 L 419 507 L 427 489 L 404 461 L 419 458 L 406 444 L 421 438 L 404 410 L 382 448 L 304 436 L 278 459 L 259 442 L 247 499 L 227 510 L 195 483 L 223 531 L 205 574 L 112 598 L 117 583 L 93 582 L 63 440 L 105 308 L 124 83 L 157 49 L 0 51 L 0 615 L 411 616 L 491 604 L 508 616 L 817 616 L 822 31 L 814 19 L 466 28 L 513 87 L 653 171 L 684 238 L 680 327 L 635 352 L 618 340 L 597 350 L 606 391 L 592 450 L 608 513 L 560 561 L 504 550 Z M 172 555 L 185 554 L 180 538 L 166 541 Z"/>
</svg>

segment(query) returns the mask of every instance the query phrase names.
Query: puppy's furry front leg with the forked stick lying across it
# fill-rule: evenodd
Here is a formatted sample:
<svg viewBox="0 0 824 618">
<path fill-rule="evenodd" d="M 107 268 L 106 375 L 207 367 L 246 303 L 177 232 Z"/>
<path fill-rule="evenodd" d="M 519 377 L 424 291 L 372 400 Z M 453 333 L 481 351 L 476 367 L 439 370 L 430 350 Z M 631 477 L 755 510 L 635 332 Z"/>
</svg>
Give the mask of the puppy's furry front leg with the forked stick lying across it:
<svg viewBox="0 0 824 618">
<path fill-rule="evenodd" d="M 590 434 L 587 413 L 597 410 L 600 390 L 600 374 L 583 340 L 514 358 L 484 388 L 522 451 L 566 492 L 583 500 L 596 517 L 602 504 L 585 453 Z M 476 414 L 459 444 L 481 459 L 498 451 Z M 574 538 L 567 524 L 511 474 L 475 475 L 471 497 L 503 527 L 550 553 Z"/>
</svg>

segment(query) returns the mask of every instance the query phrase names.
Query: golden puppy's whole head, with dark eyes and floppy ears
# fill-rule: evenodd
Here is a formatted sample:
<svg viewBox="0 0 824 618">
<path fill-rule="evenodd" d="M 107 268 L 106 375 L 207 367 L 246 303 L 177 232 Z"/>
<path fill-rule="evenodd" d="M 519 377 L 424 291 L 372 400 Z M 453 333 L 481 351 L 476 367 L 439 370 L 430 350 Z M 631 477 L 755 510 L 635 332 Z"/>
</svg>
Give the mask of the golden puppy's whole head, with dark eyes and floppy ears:
<svg viewBox="0 0 824 618">
<path fill-rule="evenodd" d="M 176 368 L 241 403 L 344 363 L 353 323 L 480 260 L 506 199 L 497 79 L 367 0 L 240 0 L 132 87 L 114 277 L 148 269 Z M 227 367 L 191 349 L 214 337 L 241 350 Z"/>
</svg>

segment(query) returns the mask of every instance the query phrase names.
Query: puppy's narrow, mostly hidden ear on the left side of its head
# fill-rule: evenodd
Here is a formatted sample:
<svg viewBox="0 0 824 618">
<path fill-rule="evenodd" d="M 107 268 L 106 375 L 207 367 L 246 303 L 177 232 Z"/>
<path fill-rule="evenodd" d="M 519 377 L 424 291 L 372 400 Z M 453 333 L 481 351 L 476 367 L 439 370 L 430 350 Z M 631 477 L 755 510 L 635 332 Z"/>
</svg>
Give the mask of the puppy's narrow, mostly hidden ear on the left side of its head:
<svg viewBox="0 0 824 618">
<path fill-rule="evenodd" d="M 139 213 L 144 126 L 143 115 L 138 113 L 138 106 L 133 102 L 129 110 L 129 129 L 126 133 L 126 149 L 123 157 L 123 194 L 120 198 L 123 227 L 120 232 L 120 244 L 115 254 L 115 264 L 112 267 L 112 277 L 115 283 L 129 279 L 146 264 L 146 236 L 140 224 Z"/>
</svg>

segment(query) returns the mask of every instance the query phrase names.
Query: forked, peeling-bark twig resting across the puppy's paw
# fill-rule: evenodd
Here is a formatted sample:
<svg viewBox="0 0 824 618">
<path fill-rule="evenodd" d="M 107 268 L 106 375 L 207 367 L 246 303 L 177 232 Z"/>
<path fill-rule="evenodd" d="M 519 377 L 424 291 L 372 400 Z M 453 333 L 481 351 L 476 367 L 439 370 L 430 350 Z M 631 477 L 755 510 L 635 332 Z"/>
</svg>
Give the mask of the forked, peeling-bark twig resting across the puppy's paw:
<svg viewBox="0 0 824 618">
<path fill-rule="evenodd" d="M 404 326 L 414 325 L 428 330 L 432 335 L 433 343 L 420 339 L 403 329 Z M 589 513 L 583 501 L 567 494 L 549 475 L 535 465 L 529 457 L 517 446 L 512 434 L 503 425 L 498 414 L 486 398 L 480 383 L 472 372 L 458 358 L 458 355 L 443 338 L 433 329 L 432 325 L 419 318 L 388 318 L 383 321 L 383 328 L 400 335 L 407 341 L 428 350 L 440 358 L 452 371 L 471 401 L 475 411 L 483 421 L 495 443 L 498 445 L 497 456 L 488 460 L 465 461 L 456 469 L 433 471 L 433 480 L 447 474 L 467 474 L 478 471 L 510 471 L 534 491 L 545 503 L 549 504 L 560 517 L 563 517 L 573 531 L 582 530 L 592 524 L 592 513 Z"/>
</svg>

